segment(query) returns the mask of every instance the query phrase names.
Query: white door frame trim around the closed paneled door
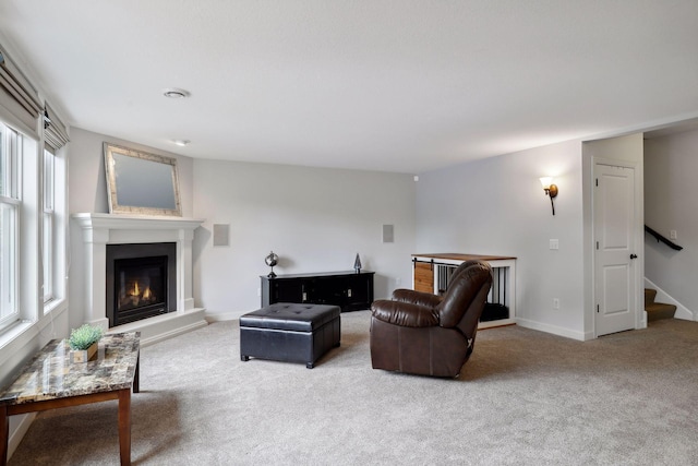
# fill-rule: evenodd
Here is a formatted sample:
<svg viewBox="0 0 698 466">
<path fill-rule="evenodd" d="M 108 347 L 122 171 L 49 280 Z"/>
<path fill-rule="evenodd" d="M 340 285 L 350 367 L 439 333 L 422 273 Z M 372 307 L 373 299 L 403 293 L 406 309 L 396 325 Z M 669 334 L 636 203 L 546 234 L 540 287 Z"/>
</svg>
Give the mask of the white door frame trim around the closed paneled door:
<svg viewBox="0 0 698 466">
<path fill-rule="evenodd" d="M 617 167 L 633 168 L 634 184 L 635 184 L 635 247 L 637 249 L 638 258 L 635 260 L 635 330 L 647 327 L 647 312 L 645 311 L 645 202 L 643 202 L 643 180 L 640 178 L 643 176 L 640 169 L 640 164 L 630 160 L 621 160 L 606 157 L 591 156 L 591 240 L 595 241 L 597 230 L 597 212 L 595 212 L 595 195 L 597 190 L 593 184 L 595 182 L 595 174 L 598 165 L 614 165 Z M 597 332 L 597 250 L 592 248 L 591 251 L 591 296 L 592 296 L 592 327 L 593 337 L 598 338 Z"/>
</svg>

